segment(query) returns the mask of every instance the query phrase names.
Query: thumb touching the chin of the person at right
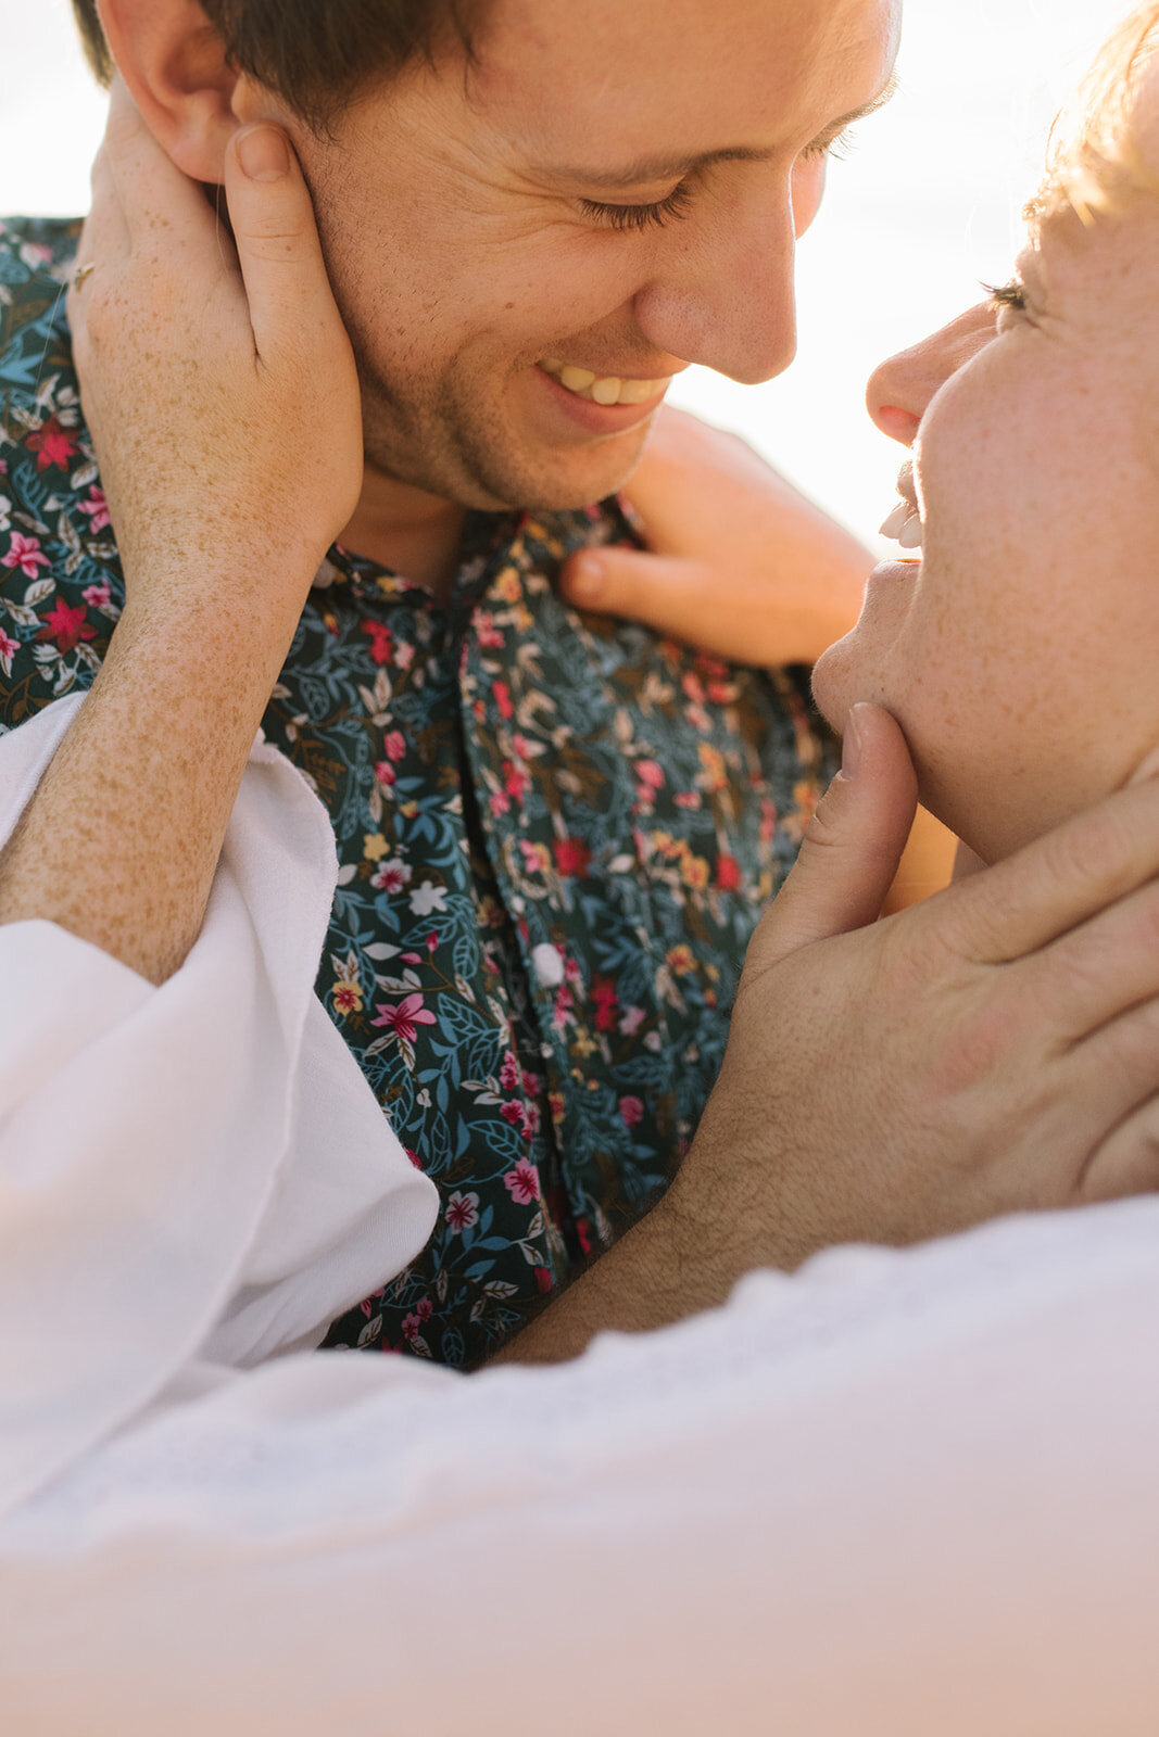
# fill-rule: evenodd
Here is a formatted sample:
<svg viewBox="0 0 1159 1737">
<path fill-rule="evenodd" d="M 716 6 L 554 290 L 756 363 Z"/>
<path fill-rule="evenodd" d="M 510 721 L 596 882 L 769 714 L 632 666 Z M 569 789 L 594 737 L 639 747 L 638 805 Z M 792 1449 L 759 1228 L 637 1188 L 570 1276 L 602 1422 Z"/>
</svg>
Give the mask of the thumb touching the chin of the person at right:
<svg viewBox="0 0 1159 1737">
<path fill-rule="evenodd" d="M 898 723 L 879 705 L 855 705 L 841 771 L 754 936 L 761 966 L 878 921 L 916 808 L 917 778 Z"/>
</svg>

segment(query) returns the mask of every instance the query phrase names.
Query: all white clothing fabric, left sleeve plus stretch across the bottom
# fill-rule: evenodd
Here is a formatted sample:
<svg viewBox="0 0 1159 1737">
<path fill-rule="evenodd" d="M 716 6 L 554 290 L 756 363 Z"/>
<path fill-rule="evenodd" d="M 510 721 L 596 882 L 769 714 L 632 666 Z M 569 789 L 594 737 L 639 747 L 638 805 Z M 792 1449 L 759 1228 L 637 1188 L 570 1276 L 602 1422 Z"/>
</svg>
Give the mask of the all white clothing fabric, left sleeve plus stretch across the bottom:
<svg viewBox="0 0 1159 1737">
<path fill-rule="evenodd" d="M 295 1056 L 360 1079 L 311 1044 L 311 802 L 257 756 L 172 988 L 0 935 L 5 1737 L 1154 1737 L 1154 1199 L 560 1369 L 229 1367 L 361 1284 L 370 1160 L 323 1186 L 334 1124 L 287 1134 Z M 429 1200 L 374 1127 L 384 1268 Z"/>
</svg>

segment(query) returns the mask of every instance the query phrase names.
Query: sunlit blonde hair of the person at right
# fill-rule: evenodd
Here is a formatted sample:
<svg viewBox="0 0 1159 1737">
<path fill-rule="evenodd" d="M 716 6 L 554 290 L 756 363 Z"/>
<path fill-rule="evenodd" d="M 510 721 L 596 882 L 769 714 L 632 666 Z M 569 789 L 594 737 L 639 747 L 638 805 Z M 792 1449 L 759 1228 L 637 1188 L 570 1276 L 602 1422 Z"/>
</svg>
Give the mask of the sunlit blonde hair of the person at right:
<svg viewBox="0 0 1159 1737">
<path fill-rule="evenodd" d="M 1159 193 L 1159 165 L 1143 151 L 1138 125 L 1140 89 L 1157 52 L 1159 3 L 1150 0 L 1112 31 L 1074 106 L 1055 122 L 1046 179 L 1027 207 L 1032 224 L 1065 210 L 1091 224 Z"/>
</svg>

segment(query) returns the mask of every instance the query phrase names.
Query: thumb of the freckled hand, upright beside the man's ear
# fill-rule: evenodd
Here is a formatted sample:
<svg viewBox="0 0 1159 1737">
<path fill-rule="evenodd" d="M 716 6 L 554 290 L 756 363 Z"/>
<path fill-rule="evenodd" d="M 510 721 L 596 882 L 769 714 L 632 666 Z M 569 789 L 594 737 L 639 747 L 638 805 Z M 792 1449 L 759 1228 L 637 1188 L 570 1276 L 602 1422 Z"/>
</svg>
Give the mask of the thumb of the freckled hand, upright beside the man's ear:
<svg viewBox="0 0 1159 1737">
<path fill-rule="evenodd" d="M 259 122 L 226 151 L 226 196 L 259 354 L 301 342 L 349 351 L 290 141 Z"/>
</svg>

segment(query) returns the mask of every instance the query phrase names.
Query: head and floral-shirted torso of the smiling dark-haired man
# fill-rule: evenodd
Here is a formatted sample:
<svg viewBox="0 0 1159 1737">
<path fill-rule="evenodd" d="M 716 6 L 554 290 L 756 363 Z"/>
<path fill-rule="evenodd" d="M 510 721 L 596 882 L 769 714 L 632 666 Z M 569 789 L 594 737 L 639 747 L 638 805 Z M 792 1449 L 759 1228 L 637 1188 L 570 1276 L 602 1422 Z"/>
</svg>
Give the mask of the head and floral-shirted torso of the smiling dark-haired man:
<svg viewBox="0 0 1159 1737">
<path fill-rule="evenodd" d="M 295 598 L 288 662 L 280 669 L 285 648 L 257 653 L 275 688 L 259 716 L 335 822 L 342 874 L 320 995 L 443 1193 L 424 1259 L 334 1337 L 469 1364 L 671 1179 L 719 1070 L 744 948 L 832 769 L 803 669 L 766 677 L 577 618 L 551 578 L 568 551 L 632 535 L 613 502 L 589 504 L 631 474 L 678 368 L 759 379 L 789 360 L 794 233 L 820 200 L 829 142 L 888 87 L 897 7 L 813 7 L 789 33 L 763 23 L 770 69 L 749 75 L 745 139 L 721 132 L 723 115 L 709 123 L 702 63 L 667 12 L 639 12 L 617 49 L 626 104 L 598 47 L 606 9 L 584 28 L 563 7 L 464 12 L 473 63 L 438 9 L 330 10 L 328 69 L 316 5 L 264 24 L 254 7 L 203 12 L 191 0 L 113 0 L 101 16 L 146 123 L 188 177 L 219 182 L 238 122 L 275 113 L 321 215 L 358 367 L 365 471 L 321 540 L 325 551 L 337 532 L 341 547 Z M 735 52 L 761 10 L 738 19 Z M 83 17 L 103 52 L 90 7 Z M 433 69 L 417 45 L 405 64 L 391 59 L 415 21 Z M 718 36 L 732 52 L 733 31 Z M 342 108 L 375 52 L 377 94 Z M 645 87 L 646 54 L 657 64 Z M 259 83 L 276 56 L 278 96 Z M 778 69 L 782 56 L 813 61 L 815 89 Z M 733 99 L 721 64 L 714 104 L 726 115 Z M 620 116 L 619 132 L 601 123 L 593 135 L 593 101 Z M 323 104 L 330 134 L 301 118 Z M 686 175 L 639 163 L 660 144 L 688 160 Z M 693 179 L 695 198 L 683 186 Z M 16 259 L 19 243 L 33 264 L 12 283 L 10 386 L 36 351 L 49 372 L 7 422 L 7 492 L 30 552 L 5 577 L 17 610 L 36 617 L 10 627 L 7 724 L 92 681 L 123 601 L 63 309 L 45 306 L 75 231 L 14 233 Z M 356 483 L 353 438 L 311 413 L 330 472 Z M 264 514 L 304 533 L 301 492 L 278 500 L 262 485 L 262 497 Z M 144 511 L 156 518 L 158 500 Z M 54 538 L 61 512 L 76 561 Z M 118 528 L 129 514 L 122 504 Z M 193 545 L 205 525 L 170 535 Z M 222 547 L 224 528 L 212 535 Z M 132 563 L 123 532 L 122 554 Z M 855 571 L 860 552 L 846 559 Z M 28 568 L 52 582 L 31 604 Z M 219 629 L 242 589 L 235 575 L 217 604 L 224 578 L 198 599 Z M 149 655 L 134 679 L 156 693 Z M 189 667 L 186 684 L 200 679 Z M 188 804 L 172 839 L 151 815 L 144 830 L 120 829 L 122 860 L 129 837 L 134 853 L 149 841 L 129 865 L 134 926 L 144 888 L 160 893 L 179 863 L 215 856 L 191 834 Z M 127 924 L 113 928 L 118 950 Z M 191 933 L 129 962 L 165 974 Z"/>
</svg>

